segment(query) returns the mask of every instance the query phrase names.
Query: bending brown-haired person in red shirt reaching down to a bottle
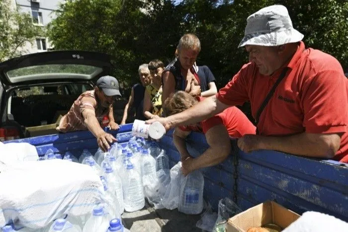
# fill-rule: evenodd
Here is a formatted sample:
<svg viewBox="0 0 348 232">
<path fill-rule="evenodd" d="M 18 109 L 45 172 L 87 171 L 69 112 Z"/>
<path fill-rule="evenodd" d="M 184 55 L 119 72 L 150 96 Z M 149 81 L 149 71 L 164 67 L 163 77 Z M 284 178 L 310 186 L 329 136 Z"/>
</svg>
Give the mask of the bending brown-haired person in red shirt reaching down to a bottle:
<svg viewBox="0 0 348 232">
<path fill-rule="evenodd" d="M 166 99 L 163 113 L 166 116 L 180 113 L 202 100 L 203 97 L 193 97 L 185 91 L 177 91 Z M 209 145 L 209 148 L 196 158 L 192 158 L 186 149 L 185 139 L 192 131 L 204 133 Z M 255 132 L 256 127 L 235 106 L 193 125 L 176 127 L 173 140 L 181 155 L 182 173 L 187 175 L 193 170 L 220 163 L 231 153 L 230 137 L 241 138 L 247 134 L 255 135 Z"/>
</svg>

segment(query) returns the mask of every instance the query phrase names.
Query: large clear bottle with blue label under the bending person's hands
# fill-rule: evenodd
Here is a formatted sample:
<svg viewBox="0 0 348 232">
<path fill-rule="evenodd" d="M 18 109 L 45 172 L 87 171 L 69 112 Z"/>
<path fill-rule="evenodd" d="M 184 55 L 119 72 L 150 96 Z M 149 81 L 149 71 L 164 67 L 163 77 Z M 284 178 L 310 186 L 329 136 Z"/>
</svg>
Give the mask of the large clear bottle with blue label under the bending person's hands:
<svg viewBox="0 0 348 232">
<path fill-rule="evenodd" d="M 184 214 L 200 214 L 203 210 L 204 178 L 196 170 L 183 178 L 177 210 Z"/>
</svg>

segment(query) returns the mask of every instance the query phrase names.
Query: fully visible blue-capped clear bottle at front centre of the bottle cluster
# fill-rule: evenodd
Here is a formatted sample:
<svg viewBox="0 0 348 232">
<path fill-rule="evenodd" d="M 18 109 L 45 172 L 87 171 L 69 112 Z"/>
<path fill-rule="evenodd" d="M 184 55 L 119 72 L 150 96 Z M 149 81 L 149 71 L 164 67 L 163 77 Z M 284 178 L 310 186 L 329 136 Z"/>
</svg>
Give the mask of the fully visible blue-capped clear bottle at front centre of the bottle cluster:
<svg viewBox="0 0 348 232">
<path fill-rule="evenodd" d="M 124 209 L 134 212 L 144 208 L 144 188 L 140 174 L 134 170 L 133 164 L 127 165 L 125 185 L 123 186 Z"/>
</svg>

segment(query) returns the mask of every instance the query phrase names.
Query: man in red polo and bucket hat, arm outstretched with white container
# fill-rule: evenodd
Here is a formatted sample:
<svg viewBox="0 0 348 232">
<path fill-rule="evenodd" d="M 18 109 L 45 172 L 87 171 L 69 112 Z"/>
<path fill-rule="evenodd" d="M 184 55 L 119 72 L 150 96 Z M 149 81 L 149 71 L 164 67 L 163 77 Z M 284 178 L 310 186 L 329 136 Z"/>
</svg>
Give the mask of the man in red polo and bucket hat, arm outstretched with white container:
<svg viewBox="0 0 348 232">
<path fill-rule="evenodd" d="M 147 123 L 160 121 L 167 129 L 192 124 L 249 100 L 259 134 L 239 139 L 242 151 L 276 150 L 348 163 L 348 80 L 334 57 L 306 49 L 302 38 L 285 6 L 262 8 L 248 17 L 239 45 L 250 63 L 215 96 Z"/>
</svg>

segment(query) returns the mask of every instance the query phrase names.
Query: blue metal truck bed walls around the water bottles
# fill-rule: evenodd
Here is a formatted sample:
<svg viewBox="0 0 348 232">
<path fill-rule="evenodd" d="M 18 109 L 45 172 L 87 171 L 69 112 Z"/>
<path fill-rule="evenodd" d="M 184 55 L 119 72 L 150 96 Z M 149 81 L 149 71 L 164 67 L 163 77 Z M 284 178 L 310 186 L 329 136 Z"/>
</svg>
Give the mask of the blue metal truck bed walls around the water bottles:
<svg viewBox="0 0 348 232">
<path fill-rule="evenodd" d="M 118 143 L 131 138 L 132 124 L 111 131 Z M 175 149 L 173 131 L 159 142 L 167 151 L 170 165 L 180 160 Z M 83 149 L 92 154 L 97 145 L 88 131 L 40 136 L 7 141 L 26 142 L 34 145 L 38 154 L 48 149 L 64 155 L 70 151 L 79 157 Z M 231 155 L 219 165 L 204 168 L 204 198 L 217 211 L 221 198 L 229 197 L 246 210 L 266 200 L 273 200 L 284 207 L 302 214 L 305 211 L 327 213 L 348 222 L 348 165 L 333 160 L 316 160 L 274 151 L 243 153 L 231 140 Z M 205 137 L 192 133 L 187 140 L 191 155 L 198 156 L 208 147 Z"/>
</svg>

